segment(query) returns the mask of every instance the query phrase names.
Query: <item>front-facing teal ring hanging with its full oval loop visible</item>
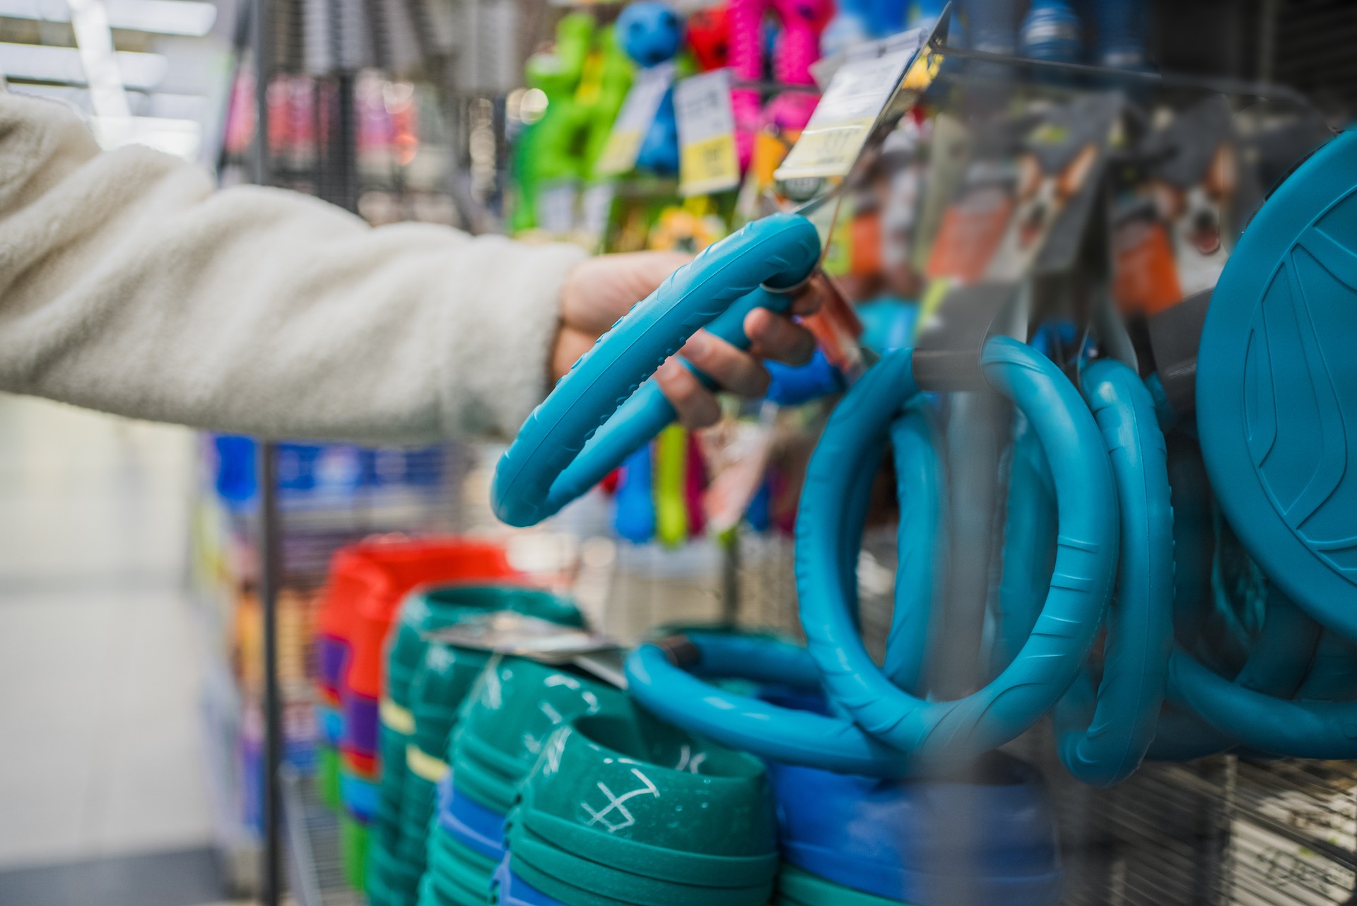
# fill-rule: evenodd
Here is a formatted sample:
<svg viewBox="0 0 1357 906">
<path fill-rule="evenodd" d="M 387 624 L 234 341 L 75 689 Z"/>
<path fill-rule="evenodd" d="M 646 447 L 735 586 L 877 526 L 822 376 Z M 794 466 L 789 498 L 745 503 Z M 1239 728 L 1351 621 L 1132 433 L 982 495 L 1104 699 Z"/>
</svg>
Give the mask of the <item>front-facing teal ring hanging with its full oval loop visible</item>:
<svg viewBox="0 0 1357 906">
<path fill-rule="evenodd" d="M 1060 513 L 1052 585 L 1031 636 L 999 677 L 954 701 L 896 688 L 867 654 L 843 595 L 839 538 L 863 453 L 919 392 L 912 350 L 883 357 L 835 410 L 811 456 L 797 521 L 801 624 L 829 697 L 923 768 L 955 766 L 1020 735 L 1069 688 L 1092 646 L 1117 571 L 1111 464 L 1088 407 L 1048 358 L 1014 339 L 985 343 L 981 369 L 1033 422 Z"/>
</svg>

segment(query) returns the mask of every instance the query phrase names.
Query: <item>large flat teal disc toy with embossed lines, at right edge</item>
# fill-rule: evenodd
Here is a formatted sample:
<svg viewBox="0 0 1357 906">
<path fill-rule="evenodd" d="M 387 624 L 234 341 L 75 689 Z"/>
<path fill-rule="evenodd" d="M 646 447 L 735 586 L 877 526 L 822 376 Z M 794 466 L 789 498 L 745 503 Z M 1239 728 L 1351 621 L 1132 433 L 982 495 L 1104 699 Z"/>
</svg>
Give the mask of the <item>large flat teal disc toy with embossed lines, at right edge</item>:
<svg viewBox="0 0 1357 906">
<path fill-rule="evenodd" d="M 1357 133 L 1259 208 L 1212 294 L 1197 430 L 1263 572 L 1357 642 Z"/>
</svg>

